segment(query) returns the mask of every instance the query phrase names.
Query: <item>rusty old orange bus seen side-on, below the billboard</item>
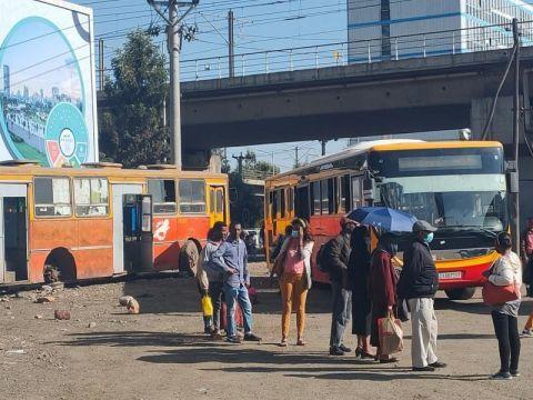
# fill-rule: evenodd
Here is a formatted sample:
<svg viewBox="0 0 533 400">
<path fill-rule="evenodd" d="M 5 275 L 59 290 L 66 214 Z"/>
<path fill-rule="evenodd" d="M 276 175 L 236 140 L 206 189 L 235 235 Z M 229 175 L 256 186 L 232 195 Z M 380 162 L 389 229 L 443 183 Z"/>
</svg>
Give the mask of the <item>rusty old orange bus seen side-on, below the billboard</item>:
<svg viewBox="0 0 533 400">
<path fill-rule="evenodd" d="M 175 270 L 229 219 L 227 193 L 225 174 L 169 166 L 0 163 L 0 284 Z"/>
</svg>

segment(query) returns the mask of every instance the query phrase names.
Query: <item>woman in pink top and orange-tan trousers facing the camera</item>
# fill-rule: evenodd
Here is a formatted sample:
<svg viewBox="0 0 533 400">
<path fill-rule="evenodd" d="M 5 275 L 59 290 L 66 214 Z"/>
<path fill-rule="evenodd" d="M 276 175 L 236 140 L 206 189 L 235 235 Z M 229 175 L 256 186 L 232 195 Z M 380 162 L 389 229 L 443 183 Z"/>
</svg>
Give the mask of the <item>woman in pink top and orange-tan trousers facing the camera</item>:
<svg viewBox="0 0 533 400">
<path fill-rule="evenodd" d="M 291 226 L 291 236 L 283 242 L 278 256 L 280 259 L 276 260 L 282 266 L 281 277 L 279 277 L 283 303 L 280 347 L 286 347 L 293 300 L 296 309 L 296 346 L 305 346 L 303 340 L 305 300 L 308 290 L 311 289 L 311 254 L 314 242 L 305 221 L 296 218 Z"/>
</svg>

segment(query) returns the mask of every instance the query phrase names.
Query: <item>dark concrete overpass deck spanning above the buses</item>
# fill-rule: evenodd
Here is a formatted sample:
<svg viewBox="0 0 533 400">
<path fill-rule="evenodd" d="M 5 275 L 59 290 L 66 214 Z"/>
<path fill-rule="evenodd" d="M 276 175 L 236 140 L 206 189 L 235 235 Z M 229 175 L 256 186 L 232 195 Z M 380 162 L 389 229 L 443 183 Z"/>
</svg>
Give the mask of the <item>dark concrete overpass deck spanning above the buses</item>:
<svg viewBox="0 0 533 400">
<path fill-rule="evenodd" d="M 510 50 L 185 82 L 189 150 L 402 132 L 483 129 Z M 525 71 L 533 48 L 522 51 Z M 527 80 L 524 80 L 527 83 Z M 525 91 L 531 90 L 525 84 Z M 512 79 L 493 138 L 509 141 Z"/>
</svg>

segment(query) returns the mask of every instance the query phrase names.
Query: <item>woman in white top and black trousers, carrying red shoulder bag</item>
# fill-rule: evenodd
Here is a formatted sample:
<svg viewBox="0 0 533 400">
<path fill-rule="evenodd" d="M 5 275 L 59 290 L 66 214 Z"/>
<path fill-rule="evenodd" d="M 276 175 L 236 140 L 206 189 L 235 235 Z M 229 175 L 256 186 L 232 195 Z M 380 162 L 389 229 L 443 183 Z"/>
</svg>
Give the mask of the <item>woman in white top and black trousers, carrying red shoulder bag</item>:
<svg viewBox="0 0 533 400">
<path fill-rule="evenodd" d="M 501 257 L 491 269 L 483 273 L 489 282 L 505 287 L 522 286 L 522 263 L 520 257 L 511 250 L 513 242 L 511 236 L 501 232 L 496 237 L 495 248 Z M 519 309 L 521 299 L 492 306 L 492 322 L 497 338 L 500 350 L 500 371 L 492 379 L 512 379 L 519 377 L 520 334 L 519 334 Z"/>
</svg>

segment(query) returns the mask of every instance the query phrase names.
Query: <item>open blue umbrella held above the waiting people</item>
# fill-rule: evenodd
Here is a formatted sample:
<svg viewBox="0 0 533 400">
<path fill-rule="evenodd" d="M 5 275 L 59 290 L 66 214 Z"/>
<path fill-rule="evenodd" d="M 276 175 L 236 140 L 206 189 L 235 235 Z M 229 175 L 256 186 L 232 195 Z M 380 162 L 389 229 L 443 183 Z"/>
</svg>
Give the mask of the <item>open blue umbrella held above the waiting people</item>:
<svg viewBox="0 0 533 400">
<path fill-rule="evenodd" d="M 361 224 L 372 226 L 389 232 L 411 232 L 416 218 L 388 207 L 362 207 L 351 211 L 348 218 Z"/>
</svg>

